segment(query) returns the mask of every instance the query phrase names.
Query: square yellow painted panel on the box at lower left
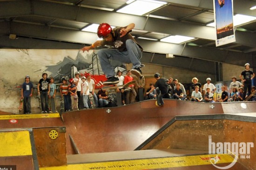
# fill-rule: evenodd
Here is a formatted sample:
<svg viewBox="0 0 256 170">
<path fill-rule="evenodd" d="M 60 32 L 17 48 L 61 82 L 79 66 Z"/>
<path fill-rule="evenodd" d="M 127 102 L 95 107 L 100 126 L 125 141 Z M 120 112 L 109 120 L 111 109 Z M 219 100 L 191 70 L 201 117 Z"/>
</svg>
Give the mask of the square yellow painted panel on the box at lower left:
<svg viewBox="0 0 256 170">
<path fill-rule="evenodd" d="M 0 132 L 0 157 L 32 155 L 29 131 Z"/>
</svg>

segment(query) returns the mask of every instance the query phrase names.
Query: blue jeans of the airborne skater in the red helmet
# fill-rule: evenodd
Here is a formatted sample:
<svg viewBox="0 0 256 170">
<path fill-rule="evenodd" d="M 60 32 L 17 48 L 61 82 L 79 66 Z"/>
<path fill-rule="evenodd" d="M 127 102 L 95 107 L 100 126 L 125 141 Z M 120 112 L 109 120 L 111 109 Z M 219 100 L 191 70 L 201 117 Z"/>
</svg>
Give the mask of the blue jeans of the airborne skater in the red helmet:
<svg viewBox="0 0 256 170">
<path fill-rule="evenodd" d="M 126 40 L 127 51 L 120 52 L 117 49 L 101 49 L 98 56 L 101 63 L 101 69 L 107 78 L 115 76 L 114 67 L 109 59 L 120 61 L 121 63 L 132 63 L 133 68 L 141 66 L 142 52 L 139 46 L 132 40 Z"/>
</svg>

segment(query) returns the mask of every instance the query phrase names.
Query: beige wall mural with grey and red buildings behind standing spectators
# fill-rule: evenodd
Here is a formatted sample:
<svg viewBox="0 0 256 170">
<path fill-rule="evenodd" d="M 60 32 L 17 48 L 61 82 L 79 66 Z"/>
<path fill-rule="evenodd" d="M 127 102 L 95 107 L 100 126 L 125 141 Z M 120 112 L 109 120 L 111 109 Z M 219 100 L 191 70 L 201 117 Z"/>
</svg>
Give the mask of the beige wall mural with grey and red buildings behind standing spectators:
<svg viewBox="0 0 256 170">
<path fill-rule="evenodd" d="M 20 88 L 26 75 L 30 76 L 34 85 L 31 107 L 35 112 L 40 109 L 36 87 L 43 72 L 47 72 L 48 78 L 54 78 L 57 88 L 61 84 L 61 78 L 74 78 L 74 72 L 77 71 L 80 76 L 90 73 L 95 80 L 96 89 L 101 88 L 102 82 L 106 80 L 97 51 L 0 49 L 0 59 L 1 111 L 18 112 Z M 121 70 L 126 74 L 124 64 L 116 61 L 111 61 L 111 64 L 116 72 Z"/>
</svg>

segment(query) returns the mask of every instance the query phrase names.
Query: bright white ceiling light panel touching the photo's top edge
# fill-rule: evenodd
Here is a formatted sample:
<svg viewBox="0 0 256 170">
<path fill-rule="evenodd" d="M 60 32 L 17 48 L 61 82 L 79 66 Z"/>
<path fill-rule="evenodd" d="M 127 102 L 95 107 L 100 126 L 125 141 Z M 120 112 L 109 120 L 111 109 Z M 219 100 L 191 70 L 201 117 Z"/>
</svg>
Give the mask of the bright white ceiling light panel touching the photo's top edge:
<svg viewBox="0 0 256 170">
<path fill-rule="evenodd" d="M 117 10 L 118 13 L 128 13 L 134 15 L 143 15 L 156 8 L 162 7 L 167 4 L 166 2 L 156 1 L 156 0 L 136 0 L 125 7 Z"/>
</svg>

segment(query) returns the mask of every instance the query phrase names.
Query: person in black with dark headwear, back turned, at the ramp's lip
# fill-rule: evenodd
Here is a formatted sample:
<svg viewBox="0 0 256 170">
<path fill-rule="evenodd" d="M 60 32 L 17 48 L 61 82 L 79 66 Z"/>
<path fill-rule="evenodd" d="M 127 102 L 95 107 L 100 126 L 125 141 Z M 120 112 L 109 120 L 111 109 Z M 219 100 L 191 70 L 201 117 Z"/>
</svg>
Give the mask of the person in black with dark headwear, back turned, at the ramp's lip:
<svg viewBox="0 0 256 170">
<path fill-rule="evenodd" d="M 170 95 L 168 93 L 168 79 L 166 78 L 160 78 L 159 73 L 155 73 L 154 75 L 155 79 L 157 80 L 155 82 L 155 85 L 149 92 L 146 94 L 148 95 L 149 93 L 153 92 L 154 89 L 156 90 L 156 104 L 158 106 L 164 105 L 163 98 L 170 98 Z"/>
</svg>

